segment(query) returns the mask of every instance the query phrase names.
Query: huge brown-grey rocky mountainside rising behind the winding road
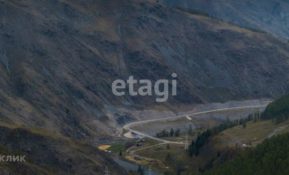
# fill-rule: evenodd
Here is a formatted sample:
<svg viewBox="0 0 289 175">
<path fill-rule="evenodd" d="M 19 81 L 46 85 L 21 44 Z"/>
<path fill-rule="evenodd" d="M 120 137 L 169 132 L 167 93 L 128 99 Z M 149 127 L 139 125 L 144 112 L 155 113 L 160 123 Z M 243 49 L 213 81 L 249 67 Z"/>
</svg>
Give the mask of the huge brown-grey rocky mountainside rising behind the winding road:
<svg viewBox="0 0 289 175">
<path fill-rule="evenodd" d="M 0 0 L 0 11 L 2 123 L 101 140 L 136 109 L 289 91 L 287 43 L 155 1 Z M 131 96 L 127 85 L 115 96 L 113 81 L 132 75 L 151 80 L 153 95 Z M 170 82 L 164 103 L 159 79 Z"/>
</svg>

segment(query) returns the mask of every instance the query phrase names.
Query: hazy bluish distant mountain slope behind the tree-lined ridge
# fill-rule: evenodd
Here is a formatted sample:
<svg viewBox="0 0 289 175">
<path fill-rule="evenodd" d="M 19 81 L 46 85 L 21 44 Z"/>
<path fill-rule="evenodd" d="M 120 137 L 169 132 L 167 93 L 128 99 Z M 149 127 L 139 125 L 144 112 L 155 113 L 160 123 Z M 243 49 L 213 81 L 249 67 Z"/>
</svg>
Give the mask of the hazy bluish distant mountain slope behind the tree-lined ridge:
<svg viewBox="0 0 289 175">
<path fill-rule="evenodd" d="M 289 2 L 284 0 L 160 0 L 171 7 L 180 5 L 208 12 L 240 26 L 265 30 L 284 40 L 289 39 Z"/>
</svg>

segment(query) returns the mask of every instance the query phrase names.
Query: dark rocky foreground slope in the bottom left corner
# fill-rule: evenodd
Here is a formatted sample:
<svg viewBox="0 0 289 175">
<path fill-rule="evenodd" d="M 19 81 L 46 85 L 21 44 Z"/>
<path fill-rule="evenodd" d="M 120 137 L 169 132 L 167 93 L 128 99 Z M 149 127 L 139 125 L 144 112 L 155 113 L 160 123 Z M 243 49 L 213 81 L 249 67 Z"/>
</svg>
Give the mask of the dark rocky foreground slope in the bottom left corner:
<svg viewBox="0 0 289 175">
<path fill-rule="evenodd" d="M 7 155 L 25 155 L 25 162 L 1 161 L 1 175 L 102 174 L 106 166 L 112 174 L 128 174 L 105 154 L 90 143 L 48 130 L 0 126 L 0 155 L 5 156 L 4 161 Z"/>
</svg>

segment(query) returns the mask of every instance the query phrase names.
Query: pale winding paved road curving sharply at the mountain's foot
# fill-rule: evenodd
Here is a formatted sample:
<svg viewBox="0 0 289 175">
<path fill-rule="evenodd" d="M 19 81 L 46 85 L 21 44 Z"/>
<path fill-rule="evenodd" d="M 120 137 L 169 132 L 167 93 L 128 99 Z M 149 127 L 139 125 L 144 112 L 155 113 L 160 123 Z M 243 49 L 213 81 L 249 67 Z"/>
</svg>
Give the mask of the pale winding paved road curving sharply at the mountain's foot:
<svg viewBox="0 0 289 175">
<path fill-rule="evenodd" d="M 233 108 L 223 108 L 223 109 L 214 109 L 214 110 L 210 110 L 210 111 L 204 111 L 204 112 L 196 112 L 196 113 L 193 113 L 193 114 L 189 114 L 189 115 L 179 115 L 179 116 L 174 116 L 174 117 L 166 117 L 166 118 L 157 118 L 157 119 L 151 119 L 151 120 L 144 120 L 144 121 L 136 121 L 136 122 L 133 122 L 133 123 L 129 123 L 129 124 L 126 124 L 123 128 L 126 129 L 126 130 L 129 130 L 135 134 L 139 134 L 139 135 L 142 135 L 144 137 L 148 137 L 148 138 L 151 138 L 151 139 L 154 139 L 154 140 L 158 140 L 158 141 L 161 141 L 163 142 L 162 144 L 166 144 L 166 143 L 173 143 L 173 144 L 186 144 L 186 143 L 183 143 L 183 142 L 172 142 L 172 141 L 167 141 L 167 140 L 163 140 L 163 139 L 159 139 L 159 138 L 156 138 L 156 137 L 152 137 L 148 134 L 144 134 L 144 133 L 141 133 L 139 131 L 136 131 L 136 130 L 132 130 L 130 129 L 129 127 L 132 126 L 132 125 L 135 125 L 135 124 L 141 124 L 141 123 L 147 123 L 147 122 L 151 122 L 151 121 L 159 121 L 159 120 L 167 120 L 167 119 L 171 119 L 171 118 L 181 118 L 181 117 L 186 117 L 186 116 L 192 116 L 192 115 L 199 115 L 199 114 L 205 114 L 205 113 L 210 113 L 210 112 L 218 112 L 218 111 L 225 111 L 225 110 L 233 110 L 233 109 L 251 109 L 251 108 L 265 108 L 266 106 L 241 106 L 241 107 L 233 107 Z M 121 132 L 122 133 L 122 132 Z M 120 133 L 120 134 L 121 134 Z M 119 135 L 120 135 L 119 134 Z M 135 150 L 137 151 L 137 150 Z"/>
</svg>

